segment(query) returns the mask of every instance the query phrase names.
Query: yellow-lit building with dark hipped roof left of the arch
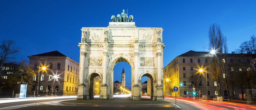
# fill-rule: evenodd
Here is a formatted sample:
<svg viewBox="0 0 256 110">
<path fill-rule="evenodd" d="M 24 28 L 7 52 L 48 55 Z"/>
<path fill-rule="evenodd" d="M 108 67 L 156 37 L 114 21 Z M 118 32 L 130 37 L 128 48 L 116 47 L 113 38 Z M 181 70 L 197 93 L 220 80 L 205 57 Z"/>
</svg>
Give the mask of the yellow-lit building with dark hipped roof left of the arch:
<svg viewBox="0 0 256 110">
<path fill-rule="evenodd" d="M 48 94 L 76 95 L 79 63 L 58 51 L 32 55 L 28 58 L 29 65 L 36 73 L 33 78 L 34 90 L 38 89 L 40 95 L 45 95 L 46 89 Z"/>
</svg>

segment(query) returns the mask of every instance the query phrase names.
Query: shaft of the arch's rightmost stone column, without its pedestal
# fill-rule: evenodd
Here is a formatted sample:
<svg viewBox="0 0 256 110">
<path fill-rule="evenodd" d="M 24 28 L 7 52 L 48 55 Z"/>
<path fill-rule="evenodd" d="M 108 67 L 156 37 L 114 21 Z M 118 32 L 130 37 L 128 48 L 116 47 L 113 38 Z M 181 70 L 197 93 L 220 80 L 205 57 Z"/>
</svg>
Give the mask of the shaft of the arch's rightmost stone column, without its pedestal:
<svg viewBox="0 0 256 110">
<path fill-rule="evenodd" d="M 162 66 L 162 52 L 156 52 L 157 56 L 157 86 L 162 86 L 162 72 L 161 72 L 161 66 Z"/>
</svg>

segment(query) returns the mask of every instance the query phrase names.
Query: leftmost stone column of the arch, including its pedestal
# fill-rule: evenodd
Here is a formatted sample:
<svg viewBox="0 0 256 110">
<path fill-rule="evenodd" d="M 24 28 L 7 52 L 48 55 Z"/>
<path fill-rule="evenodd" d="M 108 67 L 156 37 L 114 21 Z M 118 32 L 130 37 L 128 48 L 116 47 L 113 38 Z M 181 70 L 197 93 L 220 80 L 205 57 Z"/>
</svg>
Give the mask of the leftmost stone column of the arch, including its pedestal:
<svg viewBox="0 0 256 110">
<path fill-rule="evenodd" d="M 79 73 L 79 85 L 77 92 L 77 100 L 86 99 L 86 85 L 84 80 L 84 65 L 85 65 L 86 52 L 80 52 L 80 73 Z"/>
</svg>

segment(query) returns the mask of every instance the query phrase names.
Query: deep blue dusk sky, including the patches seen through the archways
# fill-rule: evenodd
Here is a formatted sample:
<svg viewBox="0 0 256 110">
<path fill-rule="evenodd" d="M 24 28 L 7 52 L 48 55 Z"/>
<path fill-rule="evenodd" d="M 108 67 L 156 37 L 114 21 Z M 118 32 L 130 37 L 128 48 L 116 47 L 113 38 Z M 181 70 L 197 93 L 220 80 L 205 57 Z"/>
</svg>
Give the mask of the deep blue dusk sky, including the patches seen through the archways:
<svg viewBox="0 0 256 110">
<path fill-rule="evenodd" d="M 0 38 L 14 40 L 22 48 L 17 60 L 58 50 L 79 62 L 78 42 L 82 27 L 107 27 L 111 16 L 128 9 L 137 27 L 162 27 L 164 66 L 189 50 L 208 49 L 208 29 L 221 26 L 227 37 L 229 53 L 256 33 L 255 0 L 168 0 L 168 1 L 29 1 L 2 0 Z M 114 80 L 131 86 L 131 67 L 118 63 Z M 145 78 L 143 79 L 143 81 Z M 142 81 L 142 82 L 143 82 Z"/>
</svg>

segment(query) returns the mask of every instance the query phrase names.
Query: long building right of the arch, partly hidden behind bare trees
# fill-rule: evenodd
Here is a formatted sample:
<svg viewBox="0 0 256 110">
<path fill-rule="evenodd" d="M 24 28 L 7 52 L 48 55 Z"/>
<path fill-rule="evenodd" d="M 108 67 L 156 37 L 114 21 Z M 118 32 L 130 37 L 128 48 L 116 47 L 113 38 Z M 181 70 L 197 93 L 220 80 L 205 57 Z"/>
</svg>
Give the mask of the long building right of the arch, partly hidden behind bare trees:
<svg viewBox="0 0 256 110">
<path fill-rule="evenodd" d="M 231 59 L 239 60 L 238 55 L 233 52 L 232 54 L 228 53 L 226 59 L 222 60 L 227 66 L 228 74 L 234 71 L 234 67 L 230 65 Z M 211 58 L 210 52 L 196 51 L 188 51 L 174 58 L 164 68 L 164 95 L 175 96 L 173 88 L 177 86 L 179 88 L 177 96 L 193 96 L 193 88 L 195 88 L 197 96 L 199 96 L 199 91 L 201 92 L 200 96 L 207 93 L 209 96 L 217 96 L 217 82 L 211 79 L 212 75 L 209 69 Z M 200 69 L 202 70 L 200 71 Z M 241 67 L 238 69 L 241 70 Z M 223 74 L 222 78 L 224 77 L 225 75 Z M 227 96 L 227 91 L 222 81 L 220 82 L 220 90 L 222 96 Z M 242 90 L 245 91 L 244 89 L 234 90 L 229 87 L 229 94 L 230 96 L 235 94 L 234 97 L 238 97 Z"/>
</svg>

